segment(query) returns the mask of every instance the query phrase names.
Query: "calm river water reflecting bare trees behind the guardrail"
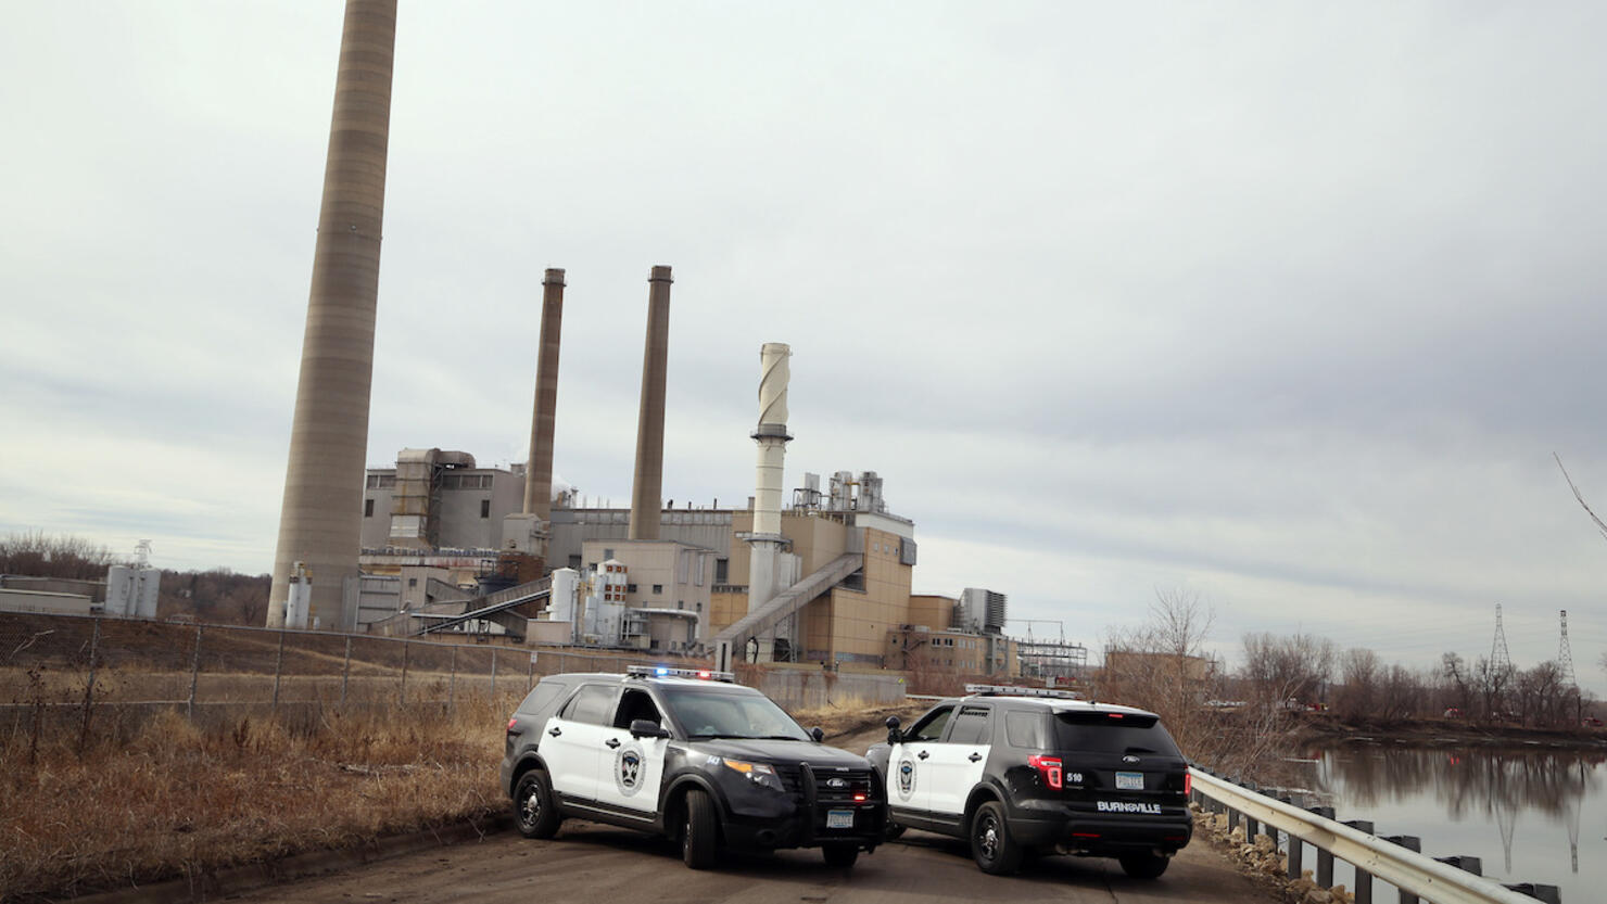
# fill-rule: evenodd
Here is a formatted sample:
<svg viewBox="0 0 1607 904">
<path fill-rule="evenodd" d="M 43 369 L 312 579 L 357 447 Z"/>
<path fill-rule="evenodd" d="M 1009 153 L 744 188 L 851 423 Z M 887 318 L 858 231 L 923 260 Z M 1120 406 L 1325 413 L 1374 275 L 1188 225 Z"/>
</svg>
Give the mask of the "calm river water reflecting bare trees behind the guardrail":
<svg viewBox="0 0 1607 904">
<path fill-rule="evenodd" d="M 1292 766 L 1339 819 L 1417 835 L 1429 856 L 1477 856 L 1496 882 L 1556 885 L 1565 904 L 1607 901 L 1607 751 L 1348 743 Z"/>
</svg>

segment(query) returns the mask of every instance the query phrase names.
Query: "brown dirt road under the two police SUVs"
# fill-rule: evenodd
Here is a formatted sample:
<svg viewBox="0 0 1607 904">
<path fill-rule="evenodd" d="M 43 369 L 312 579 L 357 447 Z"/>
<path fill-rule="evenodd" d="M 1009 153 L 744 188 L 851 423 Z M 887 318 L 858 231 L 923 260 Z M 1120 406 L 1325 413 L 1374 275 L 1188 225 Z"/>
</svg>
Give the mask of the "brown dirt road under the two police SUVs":
<svg viewBox="0 0 1607 904">
<path fill-rule="evenodd" d="M 852 870 L 818 851 L 728 854 L 707 872 L 681 865 L 665 840 L 566 822 L 558 838 L 529 841 L 506 832 L 485 841 L 379 861 L 344 873 L 264 888 L 233 898 L 252 904 L 447 902 L 482 904 L 741 904 L 932 901 L 1271 901 L 1234 867 L 1196 841 L 1155 882 L 1131 880 L 1115 861 L 1045 857 L 1019 875 L 980 872 L 963 843 L 910 832 L 860 856 Z"/>
</svg>

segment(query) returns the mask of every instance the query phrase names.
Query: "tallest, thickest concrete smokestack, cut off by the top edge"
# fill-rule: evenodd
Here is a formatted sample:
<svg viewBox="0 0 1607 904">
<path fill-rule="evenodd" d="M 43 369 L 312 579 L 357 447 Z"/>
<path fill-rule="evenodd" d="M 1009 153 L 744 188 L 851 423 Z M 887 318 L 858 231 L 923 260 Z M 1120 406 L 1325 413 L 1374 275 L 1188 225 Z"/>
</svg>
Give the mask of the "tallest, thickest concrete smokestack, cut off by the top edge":
<svg viewBox="0 0 1607 904">
<path fill-rule="evenodd" d="M 341 620 L 342 586 L 357 575 L 395 37 L 395 0 L 347 0 L 268 625 L 284 623 L 294 562 L 323 626 Z"/>
</svg>

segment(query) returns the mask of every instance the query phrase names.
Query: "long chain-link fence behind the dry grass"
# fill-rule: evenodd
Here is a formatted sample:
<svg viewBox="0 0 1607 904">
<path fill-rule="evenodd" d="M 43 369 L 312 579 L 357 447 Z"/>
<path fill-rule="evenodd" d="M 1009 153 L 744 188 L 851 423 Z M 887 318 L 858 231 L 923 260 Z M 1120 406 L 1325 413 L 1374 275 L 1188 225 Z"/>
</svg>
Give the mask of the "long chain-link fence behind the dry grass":
<svg viewBox="0 0 1607 904">
<path fill-rule="evenodd" d="M 609 654 L 321 631 L 0 612 L 0 732 L 82 742 L 159 711 L 198 726 L 336 707 L 522 697 L 545 674 L 624 671 Z"/>
</svg>

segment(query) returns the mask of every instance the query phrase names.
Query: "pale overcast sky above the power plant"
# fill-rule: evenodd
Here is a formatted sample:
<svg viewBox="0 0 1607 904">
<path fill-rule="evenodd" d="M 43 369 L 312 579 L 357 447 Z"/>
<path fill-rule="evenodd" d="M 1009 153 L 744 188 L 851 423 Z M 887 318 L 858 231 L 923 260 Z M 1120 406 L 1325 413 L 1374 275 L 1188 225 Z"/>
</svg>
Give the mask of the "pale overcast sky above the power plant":
<svg viewBox="0 0 1607 904">
<path fill-rule="evenodd" d="M 1112 10 L 1112 6 L 1118 6 Z M 272 565 L 341 3 L 14 3 L 0 530 Z M 424 3 L 397 34 L 368 462 L 630 496 L 675 268 L 664 495 L 877 470 L 916 589 L 1099 647 L 1245 631 L 1607 681 L 1607 5 Z M 354 480 L 360 475 L 354 475 Z M 1027 625 L 1012 625 L 1024 633 Z M 1056 634 L 1053 625 L 1035 633 Z"/>
</svg>

